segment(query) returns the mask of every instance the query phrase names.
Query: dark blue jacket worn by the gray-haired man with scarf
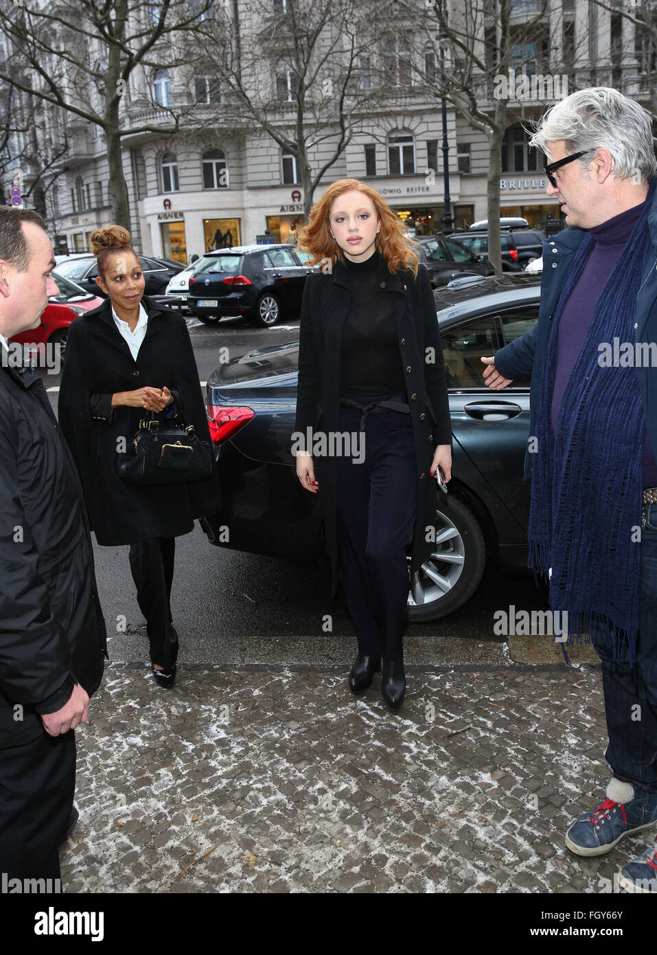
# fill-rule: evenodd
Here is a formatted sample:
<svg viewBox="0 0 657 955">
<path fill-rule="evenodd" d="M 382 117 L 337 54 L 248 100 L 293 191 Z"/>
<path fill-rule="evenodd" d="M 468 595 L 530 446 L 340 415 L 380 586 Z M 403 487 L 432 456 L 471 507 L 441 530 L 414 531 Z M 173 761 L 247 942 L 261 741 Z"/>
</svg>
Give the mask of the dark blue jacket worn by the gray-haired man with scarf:
<svg viewBox="0 0 657 955">
<path fill-rule="evenodd" d="M 637 296 L 634 324 L 636 342 L 657 342 L 657 191 L 648 212 L 650 243 L 646 248 L 641 285 Z M 531 372 L 529 435 L 536 435 L 536 415 L 539 410 L 540 376 L 543 369 L 550 323 L 559 302 L 568 265 L 586 229 L 569 226 L 554 239 L 543 243 L 543 273 L 540 283 L 539 321 L 521 338 L 500 349 L 495 355 L 495 367 L 505 378 L 520 378 Z M 639 388 L 644 399 L 646 430 L 653 454 L 657 452 L 657 369 L 637 368 Z M 524 458 L 524 479 L 531 477 L 532 456 Z"/>
</svg>

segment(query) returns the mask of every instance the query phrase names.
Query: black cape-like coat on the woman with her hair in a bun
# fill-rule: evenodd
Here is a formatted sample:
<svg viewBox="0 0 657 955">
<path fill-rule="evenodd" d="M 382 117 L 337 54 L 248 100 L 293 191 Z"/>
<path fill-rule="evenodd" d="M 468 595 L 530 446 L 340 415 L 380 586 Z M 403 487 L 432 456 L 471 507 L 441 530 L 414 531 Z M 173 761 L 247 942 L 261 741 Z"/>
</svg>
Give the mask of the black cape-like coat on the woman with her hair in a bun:
<svg viewBox="0 0 657 955">
<path fill-rule="evenodd" d="M 185 321 L 179 312 L 146 296 L 143 306 L 148 327 L 137 361 L 117 329 L 109 299 L 76 318 L 69 328 L 59 389 L 59 423 L 73 452 L 100 544 L 178 537 L 192 530 L 194 518 L 214 514 L 221 506 L 216 474 L 194 484 L 148 487 L 118 476 L 117 449 L 132 447 L 139 420 L 146 413 L 121 405 L 113 414 L 113 393 L 166 385 L 184 423 L 193 424 L 196 435 L 210 441 Z M 158 417 L 167 420 L 165 412 Z"/>
</svg>

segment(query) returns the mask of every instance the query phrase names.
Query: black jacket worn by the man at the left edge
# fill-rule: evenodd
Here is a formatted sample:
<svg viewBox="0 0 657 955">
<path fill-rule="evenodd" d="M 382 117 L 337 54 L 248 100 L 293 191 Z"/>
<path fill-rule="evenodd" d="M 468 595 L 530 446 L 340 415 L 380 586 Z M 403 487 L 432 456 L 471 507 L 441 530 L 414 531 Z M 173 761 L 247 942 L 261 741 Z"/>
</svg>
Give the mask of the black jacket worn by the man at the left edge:
<svg viewBox="0 0 657 955">
<path fill-rule="evenodd" d="M 41 735 L 106 655 L 82 489 L 43 382 L 0 368 L 0 749 Z M 22 711 L 21 711 L 22 708 Z"/>
</svg>

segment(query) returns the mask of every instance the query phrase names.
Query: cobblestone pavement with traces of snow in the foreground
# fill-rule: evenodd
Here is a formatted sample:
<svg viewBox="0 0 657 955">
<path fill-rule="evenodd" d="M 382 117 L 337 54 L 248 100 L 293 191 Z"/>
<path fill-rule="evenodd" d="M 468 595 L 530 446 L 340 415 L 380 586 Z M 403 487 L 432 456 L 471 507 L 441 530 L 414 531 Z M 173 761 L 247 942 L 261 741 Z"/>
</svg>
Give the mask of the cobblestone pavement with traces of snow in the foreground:
<svg viewBox="0 0 657 955">
<path fill-rule="evenodd" d="M 407 668 L 390 713 L 343 668 L 109 665 L 77 731 L 66 892 L 612 891 L 651 836 L 563 845 L 603 797 L 595 666 Z"/>
</svg>

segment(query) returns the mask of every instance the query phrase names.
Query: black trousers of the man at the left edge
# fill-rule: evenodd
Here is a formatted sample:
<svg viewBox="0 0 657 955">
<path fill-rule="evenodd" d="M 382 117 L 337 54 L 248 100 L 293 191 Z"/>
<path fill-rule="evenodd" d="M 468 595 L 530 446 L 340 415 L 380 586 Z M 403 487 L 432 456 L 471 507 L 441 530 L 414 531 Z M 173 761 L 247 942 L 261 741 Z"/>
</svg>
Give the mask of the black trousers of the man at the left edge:
<svg viewBox="0 0 657 955">
<path fill-rule="evenodd" d="M 75 791 L 75 733 L 0 750 L 0 875 L 59 879 Z"/>
</svg>

